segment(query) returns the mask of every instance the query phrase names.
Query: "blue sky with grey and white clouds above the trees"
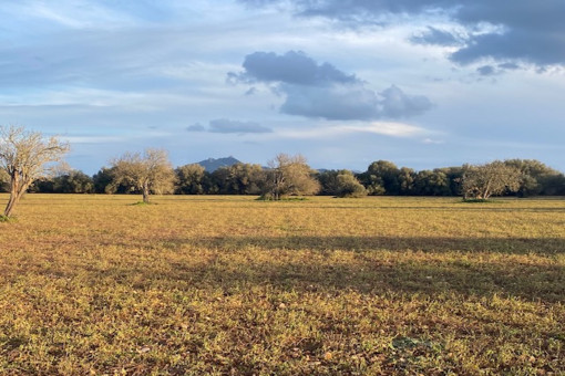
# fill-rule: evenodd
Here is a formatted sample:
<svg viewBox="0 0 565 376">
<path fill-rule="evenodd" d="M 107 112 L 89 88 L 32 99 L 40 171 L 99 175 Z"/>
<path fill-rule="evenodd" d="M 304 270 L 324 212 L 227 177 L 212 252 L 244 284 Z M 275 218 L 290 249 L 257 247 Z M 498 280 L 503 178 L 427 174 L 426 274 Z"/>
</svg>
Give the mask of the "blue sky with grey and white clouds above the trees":
<svg viewBox="0 0 565 376">
<path fill-rule="evenodd" d="M 174 166 L 565 171 L 563 0 L 0 1 L 0 125 Z"/>
</svg>

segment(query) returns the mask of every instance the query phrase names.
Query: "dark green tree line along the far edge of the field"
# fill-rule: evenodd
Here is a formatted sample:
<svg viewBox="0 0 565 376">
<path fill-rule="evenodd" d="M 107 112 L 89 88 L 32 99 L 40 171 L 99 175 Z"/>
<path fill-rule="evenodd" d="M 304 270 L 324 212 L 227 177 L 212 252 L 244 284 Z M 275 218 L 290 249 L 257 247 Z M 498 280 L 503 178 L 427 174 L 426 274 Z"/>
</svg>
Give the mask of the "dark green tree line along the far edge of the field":
<svg viewBox="0 0 565 376">
<path fill-rule="evenodd" d="M 198 164 L 173 168 L 166 163 L 163 150 L 148 149 L 163 159 L 161 170 L 153 178 L 134 184 L 127 178 L 127 169 L 134 169 L 143 157 L 126 154 L 110 166 L 101 168 L 93 176 L 80 170 L 63 169 L 40 177 L 30 185 L 31 192 L 45 194 L 150 194 L 175 195 L 255 195 L 273 194 L 277 199 L 289 195 L 321 195 L 337 197 L 358 196 L 473 196 L 489 198 L 489 190 L 473 194 L 473 187 L 485 178 L 489 169 L 494 177 L 511 175 L 508 181 L 501 181 L 504 189 L 494 195 L 504 196 L 565 196 L 565 176 L 534 159 L 507 159 L 475 166 L 443 167 L 417 171 L 409 167 L 397 167 L 388 160 L 371 163 L 363 173 L 351 170 L 314 170 L 301 156 L 279 155 L 267 167 L 257 164 L 238 163 L 207 171 Z M 479 169 L 475 174 L 472 171 Z M 294 171 L 298 170 L 298 171 Z M 275 173 L 279 173 L 278 176 Z M 481 173 L 481 174 L 479 174 Z M 286 176 L 285 176 L 286 175 Z M 290 175 L 290 176 L 289 176 Z M 514 176 L 512 176 L 514 175 Z M 466 177 L 466 185 L 464 184 Z M 1 179 L 1 178 L 0 178 Z M 284 186 L 282 179 L 286 180 Z M 288 186 L 289 184 L 296 187 Z M 152 186 L 153 185 L 153 186 Z M 275 186 L 278 188 L 273 189 Z M 491 181 L 491 185 L 493 182 Z M 8 190 L 8 184 L 2 186 Z M 479 189 L 475 187 L 476 190 Z M 465 189 L 465 190 L 464 190 Z M 486 197 L 484 197 L 486 196 Z"/>
</svg>

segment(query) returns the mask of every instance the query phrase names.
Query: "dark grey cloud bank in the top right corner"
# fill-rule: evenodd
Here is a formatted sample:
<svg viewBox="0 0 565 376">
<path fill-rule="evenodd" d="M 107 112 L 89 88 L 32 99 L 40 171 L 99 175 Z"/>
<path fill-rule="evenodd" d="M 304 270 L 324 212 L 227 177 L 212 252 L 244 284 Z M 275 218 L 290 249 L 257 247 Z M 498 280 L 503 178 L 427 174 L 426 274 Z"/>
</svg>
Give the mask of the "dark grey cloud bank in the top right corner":
<svg viewBox="0 0 565 376">
<path fill-rule="evenodd" d="M 240 0 L 266 6 L 281 0 Z M 537 67 L 565 65 L 565 1 L 563 0 L 285 0 L 295 4 L 297 14 L 325 17 L 355 27 L 383 23 L 387 17 L 443 14 L 468 30 L 464 45 L 451 55 L 459 64 L 484 59 L 534 64 Z M 484 25 L 492 25 L 485 30 Z M 481 32 L 479 29 L 483 28 Z M 413 36 L 419 44 L 454 45 L 455 35 L 430 28 Z M 449 43 L 449 44 L 448 44 Z"/>
</svg>

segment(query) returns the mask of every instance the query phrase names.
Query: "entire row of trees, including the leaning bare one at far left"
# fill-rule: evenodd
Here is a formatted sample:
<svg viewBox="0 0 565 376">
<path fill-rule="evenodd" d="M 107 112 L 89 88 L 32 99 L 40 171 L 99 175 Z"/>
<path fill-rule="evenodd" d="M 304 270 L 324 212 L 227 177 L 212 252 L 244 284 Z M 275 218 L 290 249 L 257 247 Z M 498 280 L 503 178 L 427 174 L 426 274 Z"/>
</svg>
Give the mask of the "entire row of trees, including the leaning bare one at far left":
<svg viewBox="0 0 565 376">
<path fill-rule="evenodd" d="M 278 200 L 294 195 L 359 197 L 464 196 L 487 199 L 493 195 L 565 195 L 565 176 L 537 160 L 508 159 L 486 165 L 415 171 L 387 160 L 369 165 L 367 171 L 312 170 L 306 159 L 279 154 L 268 167 L 236 164 L 208 173 L 197 164 L 173 168 L 167 153 L 147 149 L 126 153 L 94 176 L 69 167 L 48 171 L 69 145 L 56 138 L 43 140 L 40 133 L 22 127 L 0 128 L 0 189 L 10 192 L 4 216 L 23 192 L 260 195 Z"/>
</svg>

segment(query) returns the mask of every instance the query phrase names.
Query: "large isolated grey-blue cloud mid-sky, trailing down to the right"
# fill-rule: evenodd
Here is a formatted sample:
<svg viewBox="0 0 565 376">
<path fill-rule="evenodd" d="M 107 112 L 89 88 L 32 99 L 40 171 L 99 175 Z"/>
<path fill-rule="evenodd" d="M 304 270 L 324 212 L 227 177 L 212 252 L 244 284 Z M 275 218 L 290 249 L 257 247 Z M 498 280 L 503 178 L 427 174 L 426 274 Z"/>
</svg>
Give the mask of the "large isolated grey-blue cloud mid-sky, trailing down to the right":
<svg viewBox="0 0 565 376">
<path fill-rule="evenodd" d="M 432 107 L 427 97 L 408 95 L 397 86 L 378 94 L 355 74 L 318 64 L 304 52 L 255 52 L 245 58 L 243 67 L 240 73 L 228 73 L 228 80 L 271 85 L 285 96 L 280 112 L 289 115 L 372 121 L 414 116 Z"/>
</svg>

